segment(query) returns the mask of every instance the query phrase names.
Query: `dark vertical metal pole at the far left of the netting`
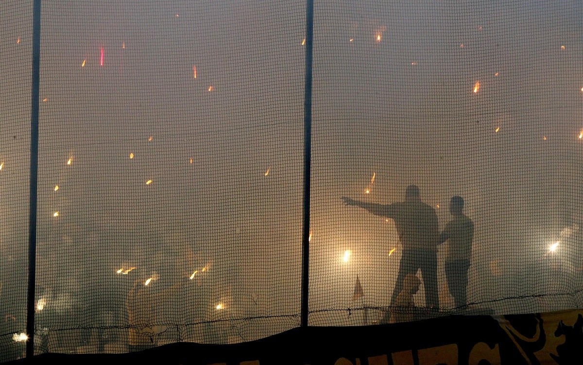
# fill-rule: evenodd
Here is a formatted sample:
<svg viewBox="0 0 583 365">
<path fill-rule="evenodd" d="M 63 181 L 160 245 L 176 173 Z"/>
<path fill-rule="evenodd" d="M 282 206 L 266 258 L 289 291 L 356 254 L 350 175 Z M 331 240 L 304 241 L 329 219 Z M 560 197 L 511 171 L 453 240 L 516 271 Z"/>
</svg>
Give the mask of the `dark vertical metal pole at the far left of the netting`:
<svg viewBox="0 0 583 365">
<path fill-rule="evenodd" d="M 38 181 L 38 103 L 40 84 L 40 3 L 33 0 L 33 57 L 30 108 L 29 291 L 26 303 L 26 357 L 34 356 L 34 286 L 36 283 L 36 210 Z"/>
</svg>

